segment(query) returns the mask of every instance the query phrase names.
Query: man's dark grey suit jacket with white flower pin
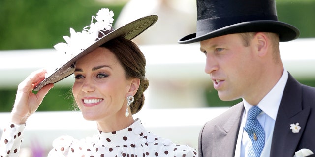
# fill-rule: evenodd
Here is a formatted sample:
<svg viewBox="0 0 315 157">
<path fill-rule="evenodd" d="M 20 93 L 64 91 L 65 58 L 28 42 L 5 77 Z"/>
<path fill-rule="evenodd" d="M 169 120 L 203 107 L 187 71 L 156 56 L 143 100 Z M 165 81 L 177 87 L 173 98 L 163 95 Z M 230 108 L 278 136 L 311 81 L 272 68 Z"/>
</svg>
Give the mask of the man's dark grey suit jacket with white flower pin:
<svg viewBox="0 0 315 157">
<path fill-rule="evenodd" d="M 315 88 L 296 81 L 290 74 L 279 106 L 270 157 L 293 157 L 302 148 L 315 153 Z M 243 102 L 207 122 L 200 131 L 199 157 L 234 157 Z M 299 133 L 290 124 L 299 123 Z M 310 157 L 315 157 L 310 156 Z"/>
</svg>

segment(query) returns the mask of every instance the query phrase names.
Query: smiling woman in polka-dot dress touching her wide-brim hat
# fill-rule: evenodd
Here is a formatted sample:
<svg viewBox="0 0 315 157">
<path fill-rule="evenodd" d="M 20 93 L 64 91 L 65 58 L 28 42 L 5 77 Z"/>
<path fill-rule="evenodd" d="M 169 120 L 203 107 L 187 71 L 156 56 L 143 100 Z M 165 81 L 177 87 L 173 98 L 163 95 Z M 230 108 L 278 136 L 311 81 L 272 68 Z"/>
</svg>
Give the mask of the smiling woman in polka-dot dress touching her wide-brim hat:
<svg viewBox="0 0 315 157">
<path fill-rule="evenodd" d="M 105 16 L 108 11 L 104 15 L 100 12 L 93 17 L 97 22 L 100 17 L 108 19 Z M 156 16 L 149 16 L 117 30 L 111 27 L 97 30 L 96 42 L 80 45 L 84 48 L 71 47 L 73 43 L 67 38 L 68 44 L 57 44 L 57 50 L 75 53 L 52 73 L 36 71 L 19 84 L 11 112 L 12 124 L 6 127 L 0 142 L 0 156 L 18 156 L 28 117 L 36 111 L 53 83 L 74 73 L 75 102 L 85 119 L 96 122 L 98 134 L 82 140 L 70 136 L 57 138 L 49 157 L 197 157 L 195 149 L 154 135 L 146 131 L 139 119 L 132 118 L 144 103 L 143 92 L 149 82 L 145 78 L 145 57 L 130 40 L 156 20 Z M 95 25 L 90 25 L 88 34 L 93 33 L 89 31 Z M 71 38 L 82 35 L 71 31 Z M 37 94 L 33 90 L 38 90 Z"/>
</svg>

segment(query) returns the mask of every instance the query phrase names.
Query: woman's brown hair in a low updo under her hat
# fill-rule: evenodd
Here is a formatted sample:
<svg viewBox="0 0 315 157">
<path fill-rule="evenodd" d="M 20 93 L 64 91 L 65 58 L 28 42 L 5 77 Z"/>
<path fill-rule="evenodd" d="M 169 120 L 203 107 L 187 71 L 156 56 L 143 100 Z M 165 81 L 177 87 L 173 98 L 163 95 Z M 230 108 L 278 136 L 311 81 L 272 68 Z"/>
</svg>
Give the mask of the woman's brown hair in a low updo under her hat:
<svg viewBox="0 0 315 157">
<path fill-rule="evenodd" d="M 133 103 L 130 105 L 132 114 L 139 112 L 144 104 L 143 92 L 149 86 L 149 81 L 145 78 L 146 59 L 143 53 L 136 44 L 123 37 L 112 39 L 101 45 L 101 47 L 105 47 L 115 54 L 125 70 L 127 79 L 140 79 L 139 89 L 134 95 Z"/>
</svg>

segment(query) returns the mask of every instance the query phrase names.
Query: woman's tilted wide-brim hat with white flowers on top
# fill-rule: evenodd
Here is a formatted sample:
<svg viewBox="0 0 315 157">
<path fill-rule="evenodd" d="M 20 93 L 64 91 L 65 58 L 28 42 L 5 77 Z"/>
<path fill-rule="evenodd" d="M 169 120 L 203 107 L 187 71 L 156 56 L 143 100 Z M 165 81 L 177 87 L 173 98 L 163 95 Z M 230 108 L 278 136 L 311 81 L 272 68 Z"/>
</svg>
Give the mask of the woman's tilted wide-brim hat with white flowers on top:
<svg viewBox="0 0 315 157">
<path fill-rule="evenodd" d="M 113 22 L 112 16 L 112 11 L 101 9 L 96 17 L 92 16 L 91 25 L 86 26 L 82 32 L 75 32 L 70 28 L 71 38 L 68 36 L 63 37 L 67 44 L 59 43 L 54 46 L 57 51 L 66 54 L 65 59 L 57 68 L 50 72 L 47 71 L 45 79 L 34 88 L 34 91 L 38 91 L 47 84 L 56 83 L 73 74 L 75 62 L 102 44 L 118 37 L 131 40 L 158 20 L 157 15 L 145 16 L 114 30 L 111 25 Z M 96 22 L 93 23 L 93 20 L 96 20 Z M 87 29 L 88 27 L 90 29 Z M 99 29 L 100 27 L 101 29 Z"/>
</svg>

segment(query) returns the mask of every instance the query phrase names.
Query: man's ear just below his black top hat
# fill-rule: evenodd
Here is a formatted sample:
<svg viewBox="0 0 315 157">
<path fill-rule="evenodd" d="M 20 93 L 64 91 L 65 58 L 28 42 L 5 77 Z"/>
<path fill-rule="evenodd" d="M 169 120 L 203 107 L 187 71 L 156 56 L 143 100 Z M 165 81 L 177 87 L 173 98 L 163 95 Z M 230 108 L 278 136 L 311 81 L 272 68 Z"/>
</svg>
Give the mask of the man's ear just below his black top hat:
<svg viewBox="0 0 315 157">
<path fill-rule="evenodd" d="M 270 40 L 268 40 L 268 37 L 263 32 L 258 32 L 255 35 L 256 44 L 257 44 L 257 51 L 258 55 L 260 57 L 265 56 L 267 54 L 268 45 L 270 44 Z"/>
</svg>

